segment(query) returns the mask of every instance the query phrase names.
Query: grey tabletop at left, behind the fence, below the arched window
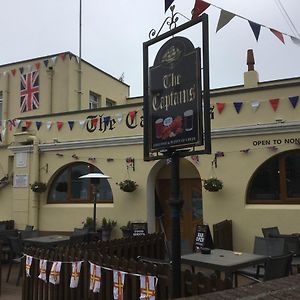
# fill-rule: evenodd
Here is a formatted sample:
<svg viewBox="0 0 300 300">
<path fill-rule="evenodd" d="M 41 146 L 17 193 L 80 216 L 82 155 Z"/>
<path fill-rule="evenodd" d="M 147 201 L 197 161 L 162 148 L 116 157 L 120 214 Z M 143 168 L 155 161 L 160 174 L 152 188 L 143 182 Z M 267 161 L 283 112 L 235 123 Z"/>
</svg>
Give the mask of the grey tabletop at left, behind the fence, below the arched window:
<svg viewBox="0 0 300 300">
<path fill-rule="evenodd" d="M 23 239 L 25 246 L 35 246 L 41 248 L 53 248 L 69 243 L 70 237 L 67 235 L 47 235 Z"/>
</svg>

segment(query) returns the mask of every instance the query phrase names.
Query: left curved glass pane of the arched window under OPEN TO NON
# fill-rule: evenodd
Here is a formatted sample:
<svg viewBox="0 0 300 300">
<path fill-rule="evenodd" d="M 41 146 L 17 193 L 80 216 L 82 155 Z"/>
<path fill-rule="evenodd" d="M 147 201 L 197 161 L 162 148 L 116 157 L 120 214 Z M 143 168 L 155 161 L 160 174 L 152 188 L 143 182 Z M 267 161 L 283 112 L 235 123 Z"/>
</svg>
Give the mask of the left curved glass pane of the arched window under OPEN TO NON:
<svg viewBox="0 0 300 300">
<path fill-rule="evenodd" d="M 255 174 L 250 186 L 250 200 L 279 200 L 278 157 L 270 159 Z"/>
</svg>

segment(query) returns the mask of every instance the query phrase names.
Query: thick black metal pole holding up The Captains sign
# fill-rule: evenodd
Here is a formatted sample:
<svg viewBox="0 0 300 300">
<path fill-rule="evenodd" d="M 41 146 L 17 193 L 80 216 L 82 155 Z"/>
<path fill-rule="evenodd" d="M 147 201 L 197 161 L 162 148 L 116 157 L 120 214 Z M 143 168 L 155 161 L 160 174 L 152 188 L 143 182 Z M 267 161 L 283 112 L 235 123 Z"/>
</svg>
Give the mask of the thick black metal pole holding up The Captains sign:
<svg viewBox="0 0 300 300">
<path fill-rule="evenodd" d="M 183 201 L 180 200 L 179 187 L 179 155 L 172 153 L 171 165 L 171 219 L 172 219 L 172 298 L 181 296 L 181 236 L 180 210 Z"/>
</svg>

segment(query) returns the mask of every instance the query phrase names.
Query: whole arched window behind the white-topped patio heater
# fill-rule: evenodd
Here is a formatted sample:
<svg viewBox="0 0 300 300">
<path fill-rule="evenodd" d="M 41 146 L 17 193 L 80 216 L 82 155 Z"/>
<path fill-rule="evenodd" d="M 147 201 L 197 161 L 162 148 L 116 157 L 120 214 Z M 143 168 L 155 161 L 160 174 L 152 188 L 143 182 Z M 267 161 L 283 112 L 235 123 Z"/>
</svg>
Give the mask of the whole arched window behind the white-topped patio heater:
<svg viewBox="0 0 300 300">
<path fill-rule="evenodd" d="M 93 186 L 90 179 L 79 177 L 88 173 L 102 173 L 95 166 L 77 162 L 61 169 L 55 176 L 48 194 L 48 203 L 93 202 Z M 98 203 L 113 202 L 112 191 L 107 179 L 101 179 L 96 187 Z"/>
</svg>

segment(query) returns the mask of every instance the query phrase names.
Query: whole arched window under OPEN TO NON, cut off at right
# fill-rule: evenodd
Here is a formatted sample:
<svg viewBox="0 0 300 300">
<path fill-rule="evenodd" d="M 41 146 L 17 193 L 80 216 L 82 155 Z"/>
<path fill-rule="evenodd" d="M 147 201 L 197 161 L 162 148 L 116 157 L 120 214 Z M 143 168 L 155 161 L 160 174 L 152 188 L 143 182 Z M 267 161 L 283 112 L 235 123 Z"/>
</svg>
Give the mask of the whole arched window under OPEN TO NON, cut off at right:
<svg viewBox="0 0 300 300">
<path fill-rule="evenodd" d="M 283 152 L 264 162 L 250 180 L 247 203 L 300 204 L 300 151 Z"/>
</svg>

